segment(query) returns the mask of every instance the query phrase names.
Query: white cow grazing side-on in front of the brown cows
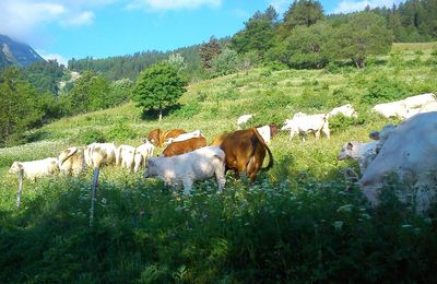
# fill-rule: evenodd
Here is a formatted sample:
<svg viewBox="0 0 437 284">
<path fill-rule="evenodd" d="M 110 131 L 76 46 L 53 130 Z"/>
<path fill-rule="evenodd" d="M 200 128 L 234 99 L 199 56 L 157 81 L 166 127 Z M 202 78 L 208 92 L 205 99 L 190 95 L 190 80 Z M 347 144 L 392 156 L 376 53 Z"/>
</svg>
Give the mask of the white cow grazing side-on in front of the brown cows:
<svg viewBox="0 0 437 284">
<path fill-rule="evenodd" d="M 189 194 L 196 180 L 215 175 L 218 190 L 225 187 L 225 153 L 217 146 L 205 146 L 190 153 L 173 157 L 151 157 L 147 159 L 144 177 L 158 177 L 167 186 L 184 186 Z"/>
</svg>

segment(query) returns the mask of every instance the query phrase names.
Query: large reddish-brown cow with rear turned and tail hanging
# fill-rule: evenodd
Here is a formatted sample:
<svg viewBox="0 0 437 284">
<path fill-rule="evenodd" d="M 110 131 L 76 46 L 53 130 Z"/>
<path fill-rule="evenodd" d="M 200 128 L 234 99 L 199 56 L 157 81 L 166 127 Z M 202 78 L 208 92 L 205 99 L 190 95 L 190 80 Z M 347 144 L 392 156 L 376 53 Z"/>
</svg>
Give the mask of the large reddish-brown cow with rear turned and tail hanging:
<svg viewBox="0 0 437 284">
<path fill-rule="evenodd" d="M 222 134 L 212 142 L 226 154 L 226 170 L 233 169 L 238 178 L 246 173 L 253 181 L 260 169 L 268 170 L 273 166 L 273 155 L 264 140 L 255 128 Z M 269 153 L 269 165 L 261 168 L 265 152 Z"/>
</svg>

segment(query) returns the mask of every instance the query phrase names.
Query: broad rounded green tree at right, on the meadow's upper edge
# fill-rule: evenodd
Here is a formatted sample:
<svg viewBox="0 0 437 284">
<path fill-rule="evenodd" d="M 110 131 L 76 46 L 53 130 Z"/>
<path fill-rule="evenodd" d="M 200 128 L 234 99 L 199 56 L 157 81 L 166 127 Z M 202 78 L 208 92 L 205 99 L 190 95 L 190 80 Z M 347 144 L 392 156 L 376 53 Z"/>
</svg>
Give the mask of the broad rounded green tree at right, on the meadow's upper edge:
<svg viewBox="0 0 437 284">
<path fill-rule="evenodd" d="M 351 14 L 346 24 L 336 31 L 335 56 L 351 59 L 357 68 L 364 68 L 368 56 L 387 55 L 392 34 L 382 16 L 371 12 Z"/>
</svg>

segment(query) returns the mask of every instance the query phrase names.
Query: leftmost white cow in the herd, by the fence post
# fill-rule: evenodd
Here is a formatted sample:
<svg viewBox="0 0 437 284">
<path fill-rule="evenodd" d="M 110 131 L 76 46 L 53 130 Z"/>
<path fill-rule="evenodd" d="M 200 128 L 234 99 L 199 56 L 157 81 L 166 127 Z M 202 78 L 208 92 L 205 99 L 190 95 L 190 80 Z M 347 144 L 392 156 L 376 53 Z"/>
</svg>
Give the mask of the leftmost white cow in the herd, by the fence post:
<svg viewBox="0 0 437 284">
<path fill-rule="evenodd" d="M 14 162 L 9 173 L 19 174 L 21 170 L 23 170 L 25 178 L 33 180 L 44 176 L 52 176 L 59 171 L 58 158 L 47 157 L 31 162 Z"/>
</svg>

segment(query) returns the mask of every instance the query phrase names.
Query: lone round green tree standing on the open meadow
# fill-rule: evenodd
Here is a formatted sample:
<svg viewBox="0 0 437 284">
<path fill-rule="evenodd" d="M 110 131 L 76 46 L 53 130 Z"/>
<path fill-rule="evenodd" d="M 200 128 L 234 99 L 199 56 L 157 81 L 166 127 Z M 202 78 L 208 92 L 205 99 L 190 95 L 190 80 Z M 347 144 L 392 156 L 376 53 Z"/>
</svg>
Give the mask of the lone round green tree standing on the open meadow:
<svg viewBox="0 0 437 284">
<path fill-rule="evenodd" d="M 178 70 L 164 61 L 140 73 L 133 88 L 133 100 L 143 111 L 158 110 L 161 121 L 163 109 L 176 104 L 187 91 L 186 85 L 187 81 L 178 74 Z"/>
</svg>

